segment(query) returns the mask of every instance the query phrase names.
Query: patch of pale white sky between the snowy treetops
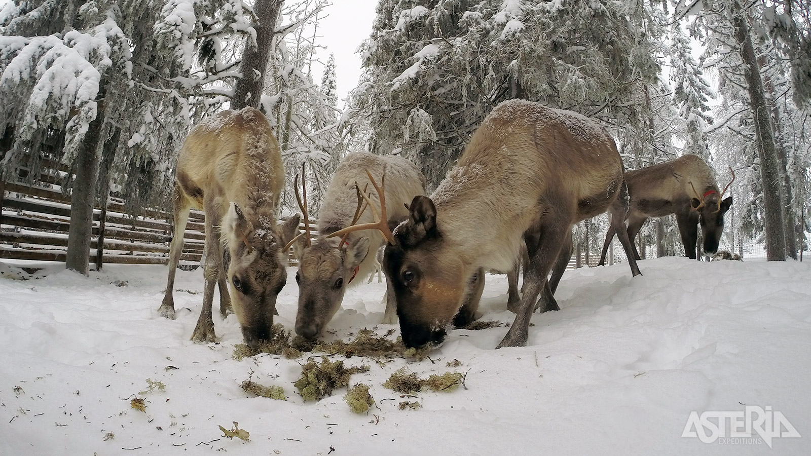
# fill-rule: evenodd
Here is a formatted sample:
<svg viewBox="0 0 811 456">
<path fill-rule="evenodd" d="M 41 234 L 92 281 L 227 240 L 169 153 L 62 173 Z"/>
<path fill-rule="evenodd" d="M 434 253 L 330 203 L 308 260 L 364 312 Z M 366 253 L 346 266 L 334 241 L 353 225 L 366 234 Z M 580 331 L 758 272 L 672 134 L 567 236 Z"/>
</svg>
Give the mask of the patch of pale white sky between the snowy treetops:
<svg viewBox="0 0 811 456">
<path fill-rule="evenodd" d="M 324 63 L 330 53 L 335 54 L 338 108 L 343 107 L 346 94 L 358 85 L 361 61 L 356 51 L 371 33 L 375 6 L 377 0 L 333 0 L 332 6 L 324 8 L 327 16 L 320 19 L 317 43 L 326 49 L 320 49 L 317 55 Z M 313 80 L 321 84 L 324 66 L 316 62 L 313 68 Z"/>
</svg>

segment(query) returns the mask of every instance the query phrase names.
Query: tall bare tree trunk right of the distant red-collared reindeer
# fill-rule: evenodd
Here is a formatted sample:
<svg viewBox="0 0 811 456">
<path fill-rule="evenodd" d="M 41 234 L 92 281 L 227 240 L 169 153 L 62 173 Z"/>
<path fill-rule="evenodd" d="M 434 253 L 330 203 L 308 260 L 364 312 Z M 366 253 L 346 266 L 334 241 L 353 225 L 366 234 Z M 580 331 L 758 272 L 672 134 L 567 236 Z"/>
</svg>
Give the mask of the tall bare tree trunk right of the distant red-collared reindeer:
<svg viewBox="0 0 811 456">
<path fill-rule="evenodd" d="M 771 129 L 770 110 L 763 93 L 763 81 L 757 57 L 752 45 L 746 15 L 739 2 L 732 2 L 732 26 L 740 47 L 740 58 L 744 65 L 744 79 L 749 92 L 749 105 L 752 109 L 757 138 L 757 157 L 760 159 L 763 181 L 763 212 L 766 227 L 766 260 L 786 260 L 786 240 L 783 230 L 783 210 L 780 201 L 780 174 L 775 136 Z"/>
</svg>

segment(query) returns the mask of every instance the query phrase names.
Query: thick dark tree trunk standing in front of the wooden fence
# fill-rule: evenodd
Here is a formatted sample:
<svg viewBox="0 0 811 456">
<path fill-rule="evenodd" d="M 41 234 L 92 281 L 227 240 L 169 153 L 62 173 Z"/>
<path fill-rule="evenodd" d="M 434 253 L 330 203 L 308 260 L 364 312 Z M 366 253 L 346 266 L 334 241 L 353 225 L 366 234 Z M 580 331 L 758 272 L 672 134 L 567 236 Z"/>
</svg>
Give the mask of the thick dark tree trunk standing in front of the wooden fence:
<svg viewBox="0 0 811 456">
<path fill-rule="evenodd" d="M 99 97 L 104 98 L 104 89 Z M 93 201 L 96 200 L 96 179 L 99 170 L 98 150 L 104 125 L 104 101 L 98 103 L 96 118 L 88 126 L 84 141 L 76 155 L 76 177 L 71 193 L 71 226 L 67 234 L 65 267 L 88 275 L 90 238 L 93 228 Z"/>
</svg>

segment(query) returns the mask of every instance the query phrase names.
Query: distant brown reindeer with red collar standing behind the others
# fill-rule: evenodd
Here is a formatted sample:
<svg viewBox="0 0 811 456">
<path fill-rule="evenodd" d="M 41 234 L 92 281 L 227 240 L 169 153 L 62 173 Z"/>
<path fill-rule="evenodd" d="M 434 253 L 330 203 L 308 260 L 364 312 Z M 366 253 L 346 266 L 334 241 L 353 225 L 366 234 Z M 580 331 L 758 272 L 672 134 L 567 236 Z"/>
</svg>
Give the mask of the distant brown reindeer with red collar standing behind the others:
<svg viewBox="0 0 811 456">
<path fill-rule="evenodd" d="M 631 239 L 634 258 L 639 260 L 633 239 L 637 237 L 648 217 L 664 217 L 672 213 L 676 214 L 686 256 L 693 260 L 696 258 L 698 225 L 702 226 L 704 252 L 714 254 L 723 233 L 723 214 L 732 205 L 732 196 L 723 196 L 734 180 L 735 173 L 732 172 L 732 181 L 727 183 L 723 191 L 719 191 L 712 168 L 697 155 L 684 155 L 659 165 L 625 173 L 630 197 L 626 215 L 628 237 Z M 605 262 L 608 246 L 616 232 L 615 225 L 611 223 L 606 233 L 600 265 Z"/>
</svg>

